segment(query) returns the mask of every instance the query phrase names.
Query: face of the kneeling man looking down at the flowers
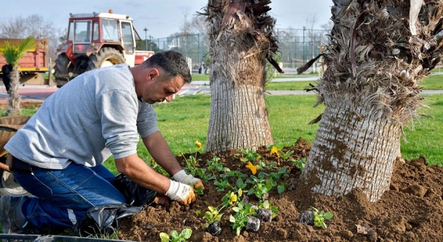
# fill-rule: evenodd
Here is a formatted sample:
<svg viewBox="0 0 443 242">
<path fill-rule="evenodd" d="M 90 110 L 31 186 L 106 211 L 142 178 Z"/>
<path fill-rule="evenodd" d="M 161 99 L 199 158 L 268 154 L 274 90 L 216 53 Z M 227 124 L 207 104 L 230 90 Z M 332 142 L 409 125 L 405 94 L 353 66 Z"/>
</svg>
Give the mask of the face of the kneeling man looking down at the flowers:
<svg viewBox="0 0 443 242">
<path fill-rule="evenodd" d="M 143 100 L 149 104 L 156 102 L 171 102 L 174 93 L 178 93 L 184 86 L 185 81 L 182 77 L 172 77 L 170 80 L 159 82 L 159 77 L 149 80 L 143 93 Z"/>
</svg>

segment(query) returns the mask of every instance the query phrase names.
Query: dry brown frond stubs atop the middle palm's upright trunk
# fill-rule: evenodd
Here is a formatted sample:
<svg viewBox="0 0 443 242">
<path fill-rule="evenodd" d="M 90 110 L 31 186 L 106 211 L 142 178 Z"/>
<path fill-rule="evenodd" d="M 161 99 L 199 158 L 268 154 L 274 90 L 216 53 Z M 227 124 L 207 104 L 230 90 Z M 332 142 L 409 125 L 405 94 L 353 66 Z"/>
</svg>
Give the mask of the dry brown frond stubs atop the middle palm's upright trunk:
<svg viewBox="0 0 443 242">
<path fill-rule="evenodd" d="M 270 0 L 210 0 L 204 12 L 211 23 L 209 55 L 217 55 L 218 46 L 229 46 L 237 58 L 256 58 L 263 64 L 267 60 L 283 73 L 273 59 L 278 45 L 273 32 L 275 19 L 268 15 L 269 3 Z"/>
</svg>

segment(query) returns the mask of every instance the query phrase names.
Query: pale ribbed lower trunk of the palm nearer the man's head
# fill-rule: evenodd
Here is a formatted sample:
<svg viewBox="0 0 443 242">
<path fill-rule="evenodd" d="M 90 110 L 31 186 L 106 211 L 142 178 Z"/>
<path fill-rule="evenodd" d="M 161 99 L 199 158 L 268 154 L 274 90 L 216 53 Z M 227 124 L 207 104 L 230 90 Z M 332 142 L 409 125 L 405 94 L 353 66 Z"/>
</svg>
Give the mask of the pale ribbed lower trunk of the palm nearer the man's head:
<svg viewBox="0 0 443 242">
<path fill-rule="evenodd" d="M 257 149 L 273 144 L 264 102 L 264 65 L 220 46 L 210 71 L 210 119 L 206 151 Z"/>
</svg>

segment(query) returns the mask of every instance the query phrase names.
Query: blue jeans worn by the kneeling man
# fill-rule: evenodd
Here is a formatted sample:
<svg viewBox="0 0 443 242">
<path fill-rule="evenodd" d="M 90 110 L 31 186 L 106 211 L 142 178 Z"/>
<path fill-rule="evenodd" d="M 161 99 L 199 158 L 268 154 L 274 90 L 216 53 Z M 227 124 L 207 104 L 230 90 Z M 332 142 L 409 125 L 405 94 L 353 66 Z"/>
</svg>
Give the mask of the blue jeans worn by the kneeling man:
<svg viewBox="0 0 443 242">
<path fill-rule="evenodd" d="M 126 203 L 113 185 L 114 174 L 103 165 L 71 163 L 62 170 L 33 167 L 33 173 L 14 171 L 14 178 L 34 195 L 26 199 L 21 212 L 40 230 L 73 227 L 91 207 Z"/>
</svg>

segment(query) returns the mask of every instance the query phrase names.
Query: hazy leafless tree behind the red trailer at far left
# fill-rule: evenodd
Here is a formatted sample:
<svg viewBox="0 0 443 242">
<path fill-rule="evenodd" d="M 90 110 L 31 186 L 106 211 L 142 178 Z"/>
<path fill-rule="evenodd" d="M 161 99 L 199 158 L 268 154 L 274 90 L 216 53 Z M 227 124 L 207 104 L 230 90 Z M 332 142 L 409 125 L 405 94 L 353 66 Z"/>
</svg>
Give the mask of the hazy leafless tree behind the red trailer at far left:
<svg viewBox="0 0 443 242">
<path fill-rule="evenodd" d="M 49 55 L 57 58 L 57 46 L 61 43 L 60 37 L 64 37 L 68 30 L 55 28 L 53 22 L 45 21 L 41 15 L 29 15 L 28 17 L 15 17 L 0 24 L 0 37 L 8 39 L 24 39 L 28 36 L 34 39 L 49 40 Z"/>
</svg>

